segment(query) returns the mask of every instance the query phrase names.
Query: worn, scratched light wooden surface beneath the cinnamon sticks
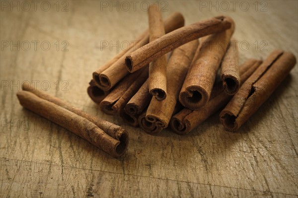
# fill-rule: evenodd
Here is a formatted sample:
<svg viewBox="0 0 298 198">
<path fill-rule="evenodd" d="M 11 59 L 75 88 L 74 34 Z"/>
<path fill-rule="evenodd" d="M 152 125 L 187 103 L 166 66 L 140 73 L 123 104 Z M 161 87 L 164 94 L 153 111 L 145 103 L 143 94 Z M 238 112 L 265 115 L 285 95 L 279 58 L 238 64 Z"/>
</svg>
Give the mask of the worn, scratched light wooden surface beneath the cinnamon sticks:
<svg viewBox="0 0 298 198">
<path fill-rule="evenodd" d="M 131 1 L 126 1 L 131 6 L 128 11 L 119 2 L 117 11 L 110 1 L 104 1 L 108 7 L 101 6 L 106 5 L 103 1 L 60 1 L 57 11 L 55 2 L 50 2 L 49 11 L 42 10 L 40 4 L 36 11 L 33 4 L 29 11 L 25 4 L 20 11 L 1 4 L 1 197 L 298 196 L 297 66 L 236 133 L 224 131 L 217 114 L 185 136 L 171 130 L 150 136 L 121 119 L 103 115 L 86 93 L 92 72 L 117 54 L 116 47 L 101 50 L 102 41 L 132 41 L 148 27 L 141 2 L 137 1 L 135 11 Z M 224 4 L 218 4 L 216 11 L 217 7 L 210 10 L 200 1 L 159 3 L 166 9 L 164 18 L 180 11 L 186 24 L 220 14 L 231 16 L 236 24 L 234 37 L 243 45 L 240 64 L 247 58 L 265 58 L 276 48 L 298 57 L 296 0 L 259 1 L 257 11 L 255 1 L 249 1 L 247 11 L 241 1 L 234 11 L 227 2 L 228 11 L 221 10 Z M 143 3 L 144 8 L 146 5 Z M 20 45 L 28 41 L 31 48 L 25 51 L 25 42 L 19 51 L 17 47 L 11 50 L 4 47 L 5 41 L 20 41 Z M 32 41 L 39 41 L 36 50 Z M 47 44 L 41 48 L 44 41 L 51 44 L 48 51 Z M 69 43 L 69 51 L 63 51 L 67 44 L 63 41 Z M 23 109 L 15 94 L 26 80 L 44 90 L 50 84 L 48 93 L 127 129 L 127 153 L 115 159 Z"/>
</svg>

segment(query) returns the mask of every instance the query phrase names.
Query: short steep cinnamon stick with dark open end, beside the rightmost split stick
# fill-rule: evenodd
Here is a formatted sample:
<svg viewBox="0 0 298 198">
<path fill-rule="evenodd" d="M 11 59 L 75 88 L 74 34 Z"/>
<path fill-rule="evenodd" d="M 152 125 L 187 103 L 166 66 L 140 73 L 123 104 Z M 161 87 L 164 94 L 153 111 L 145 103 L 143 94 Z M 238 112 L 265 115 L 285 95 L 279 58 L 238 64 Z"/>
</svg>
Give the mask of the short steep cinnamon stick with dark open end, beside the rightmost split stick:
<svg viewBox="0 0 298 198">
<path fill-rule="evenodd" d="M 240 87 L 240 76 L 238 66 L 238 48 L 228 47 L 222 62 L 221 79 L 224 91 L 228 95 L 234 95 Z"/>
</svg>

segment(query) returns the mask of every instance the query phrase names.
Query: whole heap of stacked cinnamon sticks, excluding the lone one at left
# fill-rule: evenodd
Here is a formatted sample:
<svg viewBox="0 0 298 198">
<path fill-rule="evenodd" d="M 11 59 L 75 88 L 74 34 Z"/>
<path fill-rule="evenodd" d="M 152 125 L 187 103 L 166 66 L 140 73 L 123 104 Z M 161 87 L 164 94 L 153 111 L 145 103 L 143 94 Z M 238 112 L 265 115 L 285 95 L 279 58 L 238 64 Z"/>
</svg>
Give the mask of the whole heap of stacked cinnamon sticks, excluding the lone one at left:
<svg viewBox="0 0 298 198">
<path fill-rule="evenodd" d="M 149 134 L 169 125 L 186 134 L 225 105 L 220 120 L 236 131 L 296 64 L 293 54 L 276 50 L 239 66 L 229 45 L 235 24 L 226 16 L 184 26 L 181 13 L 163 21 L 155 5 L 148 15 L 149 30 L 94 71 L 87 92 L 102 112 Z"/>
</svg>

